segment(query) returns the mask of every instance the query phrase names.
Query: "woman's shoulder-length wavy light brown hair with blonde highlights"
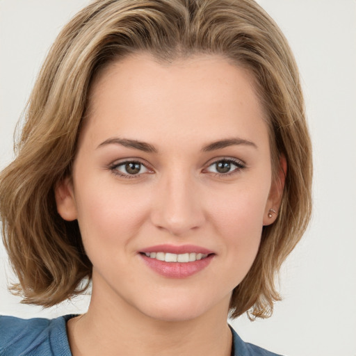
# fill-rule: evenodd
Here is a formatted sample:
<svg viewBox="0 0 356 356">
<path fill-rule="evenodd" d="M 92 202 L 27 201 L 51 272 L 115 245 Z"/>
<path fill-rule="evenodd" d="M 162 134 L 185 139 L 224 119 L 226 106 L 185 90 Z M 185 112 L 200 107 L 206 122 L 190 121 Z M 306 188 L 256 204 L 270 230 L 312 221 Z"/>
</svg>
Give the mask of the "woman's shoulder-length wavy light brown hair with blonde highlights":
<svg viewBox="0 0 356 356">
<path fill-rule="evenodd" d="M 280 300 L 275 276 L 311 214 L 312 149 L 296 62 L 284 35 L 252 0 L 98 0 L 58 35 L 26 107 L 17 156 L 0 175 L 3 243 L 22 302 L 50 307 L 83 292 L 92 264 L 79 226 L 56 211 L 54 188 L 71 174 L 93 77 L 130 54 L 171 62 L 218 54 L 247 68 L 266 111 L 271 159 L 287 163 L 279 216 L 236 286 L 230 316 L 266 318 Z M 86 283 L 83 284 L 83 281 Z"/>
</svg>

